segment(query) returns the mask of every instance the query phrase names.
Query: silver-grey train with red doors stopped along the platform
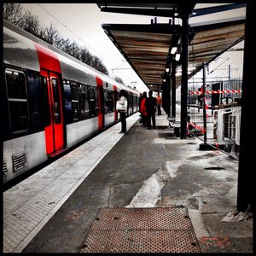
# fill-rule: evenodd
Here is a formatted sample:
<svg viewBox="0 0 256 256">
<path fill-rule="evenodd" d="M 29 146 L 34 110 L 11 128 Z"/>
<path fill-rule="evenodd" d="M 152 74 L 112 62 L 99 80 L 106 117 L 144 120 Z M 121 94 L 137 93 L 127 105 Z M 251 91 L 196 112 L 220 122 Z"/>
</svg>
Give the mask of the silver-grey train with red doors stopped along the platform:
<svg viewBox="0 0 256 256">
<path fill-rule="evenodd" d="M 137 112 L 137 90 L 3 20 L 3 183 L 118 122 L 121 89 Z"/>
</svg>

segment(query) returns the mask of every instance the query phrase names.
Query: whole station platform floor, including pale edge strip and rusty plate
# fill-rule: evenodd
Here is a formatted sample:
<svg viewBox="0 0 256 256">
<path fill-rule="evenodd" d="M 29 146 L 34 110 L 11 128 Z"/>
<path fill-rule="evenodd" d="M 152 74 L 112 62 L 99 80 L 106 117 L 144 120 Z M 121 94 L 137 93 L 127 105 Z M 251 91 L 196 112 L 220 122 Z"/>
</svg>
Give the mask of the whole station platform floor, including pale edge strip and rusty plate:
<svg viewBox="0 0 256 256">
<path fill-rule="evenodd" d="M 165 113 L 154 130 L 138 119 L 5 191 L 3 252 L 252 253 L 253 218 L 222 222 L 236 212 L 238 161 L 199 150 L 197 137 L 179 139 Z M 142 237 L 157 244 L 138 247 Z"/>
</svg>

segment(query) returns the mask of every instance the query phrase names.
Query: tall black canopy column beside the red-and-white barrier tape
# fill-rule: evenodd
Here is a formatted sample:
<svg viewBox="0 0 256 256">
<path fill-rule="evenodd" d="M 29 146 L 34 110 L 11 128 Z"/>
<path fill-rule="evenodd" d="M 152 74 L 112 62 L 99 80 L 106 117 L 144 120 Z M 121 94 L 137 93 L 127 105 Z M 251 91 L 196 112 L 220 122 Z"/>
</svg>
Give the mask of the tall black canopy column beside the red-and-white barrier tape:
<svg viewBox="0 0 256 256">
<path fill-rule="evenodd" d="M 187 102 L 188 102 L 188 62 L 189 62 L 189 14 L 183 13 L 182 26 L 182 84 L 181 84 L 181 116 L 180 138 L 187 138 Z"/>
</svg>

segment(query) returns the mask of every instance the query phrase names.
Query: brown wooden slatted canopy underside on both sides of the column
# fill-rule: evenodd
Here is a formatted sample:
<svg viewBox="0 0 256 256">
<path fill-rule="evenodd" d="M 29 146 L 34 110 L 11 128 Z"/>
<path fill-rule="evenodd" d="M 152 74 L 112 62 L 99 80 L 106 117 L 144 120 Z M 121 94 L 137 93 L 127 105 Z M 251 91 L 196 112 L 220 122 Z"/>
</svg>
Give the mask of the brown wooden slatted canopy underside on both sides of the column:
<svg viewBox="0 0 256 256">
<path fill-rule="evenodd" d="M 201 70 L 225 50 L 244 38 L 245 20 L 231 20 L 207 25 L 191 25 L 189 28 L 189 67 L 194 67 L 189 77 Z M 181 27 L 172 24 L 102 25 L 113 44 L 124 55 L 149 90 L 158 90 L 172 46 L 180 44 Z M 178 63 L 180 64 L 180 63 Z M 181 75 L 176 76 L 177 87 Z"/>
</svg>

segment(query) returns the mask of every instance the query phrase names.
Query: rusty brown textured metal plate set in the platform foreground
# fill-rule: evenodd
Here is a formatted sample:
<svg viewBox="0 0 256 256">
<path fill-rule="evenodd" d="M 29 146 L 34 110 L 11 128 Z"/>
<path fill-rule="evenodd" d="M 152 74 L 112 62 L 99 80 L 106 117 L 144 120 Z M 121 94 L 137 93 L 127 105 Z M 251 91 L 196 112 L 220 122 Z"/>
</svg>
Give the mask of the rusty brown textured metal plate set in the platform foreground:
<svg viewBox="0 0 256 256">
<path fill-rule="evenodd" d="M 200 253 L 185 208 L 102 208 L 82 253 Z"/>
</svg>

